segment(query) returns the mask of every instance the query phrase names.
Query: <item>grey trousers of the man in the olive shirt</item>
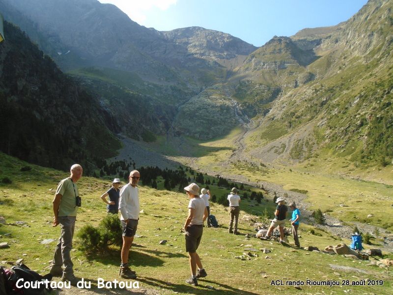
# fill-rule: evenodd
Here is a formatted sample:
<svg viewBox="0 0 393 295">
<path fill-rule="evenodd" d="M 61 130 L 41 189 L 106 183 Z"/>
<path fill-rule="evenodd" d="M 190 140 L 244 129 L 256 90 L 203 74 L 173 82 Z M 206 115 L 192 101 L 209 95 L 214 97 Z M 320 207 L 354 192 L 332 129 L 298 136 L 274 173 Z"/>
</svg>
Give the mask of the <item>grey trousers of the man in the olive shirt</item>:
<svg viewBox="0 0 393 295">
<path fill-rule="evenodd" d="M 59 216 L 61 232 L 58 238 L 52 265 L 61 267 L 64 265 L 63 274 L 74 273 L 74 264 L 71 261 L 72 238 L 74 236 L 75 216 Z"/>
</svg>

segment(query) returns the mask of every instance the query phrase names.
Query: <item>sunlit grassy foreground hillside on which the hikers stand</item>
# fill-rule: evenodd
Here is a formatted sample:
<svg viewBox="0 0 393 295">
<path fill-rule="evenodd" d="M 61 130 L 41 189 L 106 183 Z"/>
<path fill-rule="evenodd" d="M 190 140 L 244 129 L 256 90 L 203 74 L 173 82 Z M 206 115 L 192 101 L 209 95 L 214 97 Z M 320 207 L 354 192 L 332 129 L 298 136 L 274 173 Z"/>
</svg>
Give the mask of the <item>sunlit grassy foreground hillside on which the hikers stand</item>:
<svg viewBox="0 0 393 295">
<path fill-rule="evenodd" d="M 51 202 L 57 182 L 67 177 L 68 173 L 34 165 L 29 165 L 32 168 L 30 171 L 22 172 L 21 168 L 27 165 L 25 162 L 0 154 L 0 179 L 8 177 L 12 180 L 11 184 L 0 185 L 1 215 L 7 221 L 6 225 L 0 225 L 1 242 L 6 241 L 10 244 L 9 248 L 0 249 L 0 253 L 4 261 L 24 258 L 29 267 L 45 273 L 48 271 L 55 242 L 42 244 L 41 241 L 50 238 L 56 240 L 58 237 L 59 229 L 51 226 Z M 83 177 L 78 182 L 83 207 L 78 213 L 76 233 L 85 224 L 97 225 L 106 215 L 105 204 L 99 197 L 108 188 L 109 182 L 91 177 Z M 269 203 L 271 204 L 271 200 L 267 204 Z M 344 290 L 351 294 L 390 294 L 393 290 L 390 269 L 371 266 L 367 261 L 355 262 L 337 255 L 298 250 L 276 242 L 247 238 L 244 235 L 229 235 L 225 226 L 218 229 L 204 228 L 198 253 L 208 276 L 199 281 L 199 287 L 187 286 L 184 280 L 189 276 L 188 258 L 184 249 L 184 236 L 180 233 L 187 216 L 187 204 L 185 194 L 140 187 L 140 208 L 144 213 L 140 215 L 139 236 L 135 239 L 130 263 L 139 274 L 141 289 L 153 289 L 159 294 L 175 292 L 244 295 L 293 292 L 315 294 L 327 291 L 343 294 Z M 258 220 L 258 217 L 247 214 L 250 204 L 241 204 L 240 231 L 242 234 L 253 234 L 253 224 L 249 218 Z M 226 209 L 213 204 L 211 210 L 219 222 L 226 225 Z M 245 215 L 249 217 L 246 218 Z M 10 225 L 16 221 L 25 221 L 29 227 Z M 313 245 L 323 249 L 329 244 L 340 242 L 319 230 L 315 232 L 322 236 L 311 235 L 310 229 L 304 224 L 300 227 L 300 242 L 303 246 Z M 159 244 L 163 239 L 168 240 L 166 245 Z M 78 241 L 75 242 L 75 246 L 77 245 Z M 259 248 L 264 247 L 272 252 L 263 254 Z M 255 248 L 256 252 L 247 248 Z M 250 260 L 235 258 L 243 255 L 243 252 L 256 253 L 258 256 Z M 79 250 L 72 253 L 76 275 L 92 280 L 93 285 L 98 277 L 108 281 L 118 279 L 119 248 L 113 247 L 105 255 L 89 257 Z M 23 254 L 26 255 L 22 256 Z M 356 267 L 363 273 L 333 270 L 330 265 Z M 283 280 L 284 283 L 289 280 L 306 279 L 338 280 L 340 283 L 342 280 L 352 282 L 380 279 L 384 280 L 384 285 L 302 286 L 302 290 L 298 291 L 291 286 L 271 286 L 271 281 L 277 279 Z M 102 290 L 99 292 L 102 293 Z"/>
</svg>

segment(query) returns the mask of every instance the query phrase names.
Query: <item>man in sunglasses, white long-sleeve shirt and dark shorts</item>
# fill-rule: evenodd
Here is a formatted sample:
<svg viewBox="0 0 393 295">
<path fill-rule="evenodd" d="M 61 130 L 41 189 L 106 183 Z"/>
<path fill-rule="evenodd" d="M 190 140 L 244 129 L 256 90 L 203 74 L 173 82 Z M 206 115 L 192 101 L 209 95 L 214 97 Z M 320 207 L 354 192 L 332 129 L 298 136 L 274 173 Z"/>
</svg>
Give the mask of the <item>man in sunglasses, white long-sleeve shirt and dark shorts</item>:
<svg viewBox="0 0 393 295">
<path fill-rule="evenodd" d="M 122 187 L 119 198 L 120 222 L 123 229 L 123 247 L 121 248 L 119 275 L 125 279 L 136 279 L 135 271 L 128 266 L 128 254 L 138 227 L 139 194 L 137 185 L 140 173 L 137 170 L 133 170 L 130 172 L 128 179 L 130 182 Z"/>
</svg>

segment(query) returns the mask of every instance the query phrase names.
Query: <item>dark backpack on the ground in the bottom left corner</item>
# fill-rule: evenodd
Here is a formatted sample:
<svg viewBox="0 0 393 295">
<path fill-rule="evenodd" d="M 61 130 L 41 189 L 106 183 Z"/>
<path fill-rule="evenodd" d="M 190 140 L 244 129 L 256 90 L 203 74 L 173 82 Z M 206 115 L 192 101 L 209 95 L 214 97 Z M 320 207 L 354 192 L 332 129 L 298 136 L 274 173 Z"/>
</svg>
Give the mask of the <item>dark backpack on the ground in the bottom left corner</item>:
<svg viewBox="0 0 393 295">
<path fill-rule="evenodd" d="M 31 270 L 24 264 L 12 266 L 11 269 L 8 270 L 7 277 L 8 279 L 5 282 L 5 289 L 8 292 L 7 294 L 46 295 L 52 290 L 52 288 L 50 287 L 48 289 L 45 289 L 45 284 L 41 284 L 37 289 L 24 287 L 18 288 L 16 284 L 20 279 L 23 279 L 23 281 L 20 281 L 18 285 L 24 285 L 25 282 L 34 283 L 36 281 L 41 282 L 43 280 L 52 280 L 52 275 L 50 273 L 42 276 L 34 270 Z"/>
</svg>

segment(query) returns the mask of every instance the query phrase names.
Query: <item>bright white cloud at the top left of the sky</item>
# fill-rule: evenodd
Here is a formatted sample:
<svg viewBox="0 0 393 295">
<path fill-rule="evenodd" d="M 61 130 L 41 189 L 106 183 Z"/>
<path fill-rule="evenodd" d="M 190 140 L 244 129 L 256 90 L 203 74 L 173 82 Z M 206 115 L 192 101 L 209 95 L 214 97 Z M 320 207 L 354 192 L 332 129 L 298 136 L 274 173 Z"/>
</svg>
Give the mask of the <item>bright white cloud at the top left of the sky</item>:
<svg viewBox="0 0 393 295">
<path fill-rule="evenodd" d="M 99 0 L 101 3 L 111 3 L 120 8 L 134 22 L 144 25 L 146 12 L 152 8 L 167 10 L 177 0 Z"/>
</svg>

